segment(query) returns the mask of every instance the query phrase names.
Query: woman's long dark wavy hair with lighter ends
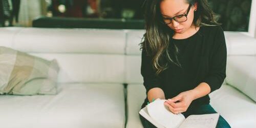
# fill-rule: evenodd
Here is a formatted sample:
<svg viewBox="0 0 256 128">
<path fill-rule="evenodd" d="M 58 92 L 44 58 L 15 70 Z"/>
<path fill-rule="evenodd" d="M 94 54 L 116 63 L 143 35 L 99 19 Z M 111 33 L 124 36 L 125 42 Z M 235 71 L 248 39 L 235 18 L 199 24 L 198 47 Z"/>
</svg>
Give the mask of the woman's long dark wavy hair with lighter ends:
<svg viewBox="0 0 256 128">
<path fill-rule="evenodd" d="M 152 66 L 159 75 L 168 68 L 167 62 L 170 61 L 181 67 L 177 58 L 179 49 L 174 43 L 170 43 L 169 39 L 174 35 L 174 31 L 163 22 L 160 12 L 160 2 L 162 0 L 145 0 L 144 18 L 146 33 L 143 35 L 140 50 L 144 50 L 148 56 L 152 57 Z M 197 3 L 197 11 L 194 13 L 193 24 L 199 26 L 216 26 L 220 25 L 216 22 L 214 12 L 208 5 L 207 0 L 186 0 L 188 4 L 195 5 Z M 168 47 L 170 45 L 170 51 Z"/>
</svg>

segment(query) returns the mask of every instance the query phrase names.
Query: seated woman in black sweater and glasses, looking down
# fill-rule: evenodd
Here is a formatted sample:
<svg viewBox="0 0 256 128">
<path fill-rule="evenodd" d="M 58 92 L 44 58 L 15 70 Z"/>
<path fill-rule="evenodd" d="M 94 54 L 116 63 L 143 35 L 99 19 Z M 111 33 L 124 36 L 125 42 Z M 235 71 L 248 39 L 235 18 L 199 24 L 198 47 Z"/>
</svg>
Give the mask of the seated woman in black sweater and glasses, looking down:
<svg viewBox="0 0 256 128">
<path fill-rule="evenodd" d="M 147 0 L 141 75 L 147 97 L 185 117 L 217 113 L 208 94 L 226 77 L 226 43 L 206 0 Z M 155 127 L 140 115 L 144 127 Z M 217 127 L 230 127 L 219 117 Z"/>
</svg>

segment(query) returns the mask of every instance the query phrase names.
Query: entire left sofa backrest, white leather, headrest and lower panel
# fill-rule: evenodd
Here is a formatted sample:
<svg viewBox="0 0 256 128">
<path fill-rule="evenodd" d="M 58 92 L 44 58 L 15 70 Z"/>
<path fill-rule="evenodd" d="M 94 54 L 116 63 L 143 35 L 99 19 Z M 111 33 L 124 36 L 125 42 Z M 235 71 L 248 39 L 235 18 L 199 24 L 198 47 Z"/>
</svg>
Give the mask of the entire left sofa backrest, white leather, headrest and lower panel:
<svg viewBox="0 0 256 128">
<path fill-rule="evenodd" d="M 124 31 L 1 28 L 0 45 L 56 58 L 61 68 L 58 82 L 124 83 Z"/>
</svg>

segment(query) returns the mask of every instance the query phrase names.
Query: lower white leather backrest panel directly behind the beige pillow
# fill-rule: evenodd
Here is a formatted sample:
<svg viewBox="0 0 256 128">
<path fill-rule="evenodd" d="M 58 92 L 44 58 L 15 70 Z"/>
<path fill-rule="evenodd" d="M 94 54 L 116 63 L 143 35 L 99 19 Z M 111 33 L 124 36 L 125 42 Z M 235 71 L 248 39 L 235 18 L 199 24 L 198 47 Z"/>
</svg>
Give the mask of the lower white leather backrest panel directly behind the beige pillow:
<svg viewBox="0 0 256 128">
<path fill-rule="evenodd" d="M 46 54 L 32 55 L 56 59 L 60 72 L 58 82 L 123 83 L 124 55 L 118 54 Z"/>
</svg>

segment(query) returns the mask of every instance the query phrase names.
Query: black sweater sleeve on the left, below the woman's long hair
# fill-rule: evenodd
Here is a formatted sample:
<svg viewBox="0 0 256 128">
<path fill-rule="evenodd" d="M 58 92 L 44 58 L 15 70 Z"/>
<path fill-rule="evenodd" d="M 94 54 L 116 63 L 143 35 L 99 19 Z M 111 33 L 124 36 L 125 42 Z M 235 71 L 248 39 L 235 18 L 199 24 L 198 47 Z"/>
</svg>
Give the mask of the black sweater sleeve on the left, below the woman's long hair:
<svg viewBox="0 0 256 128">
<path fill-rule="evenodd" d="M 155 70 L 152 66 L 152 57 L 146 55 L 145 50 L 142 50 L 141 55 L 141 75 L 143 76 L 146 94 L 152 88 L 160 88 L 159 77 L 155 75 Z"/>
</svg>

